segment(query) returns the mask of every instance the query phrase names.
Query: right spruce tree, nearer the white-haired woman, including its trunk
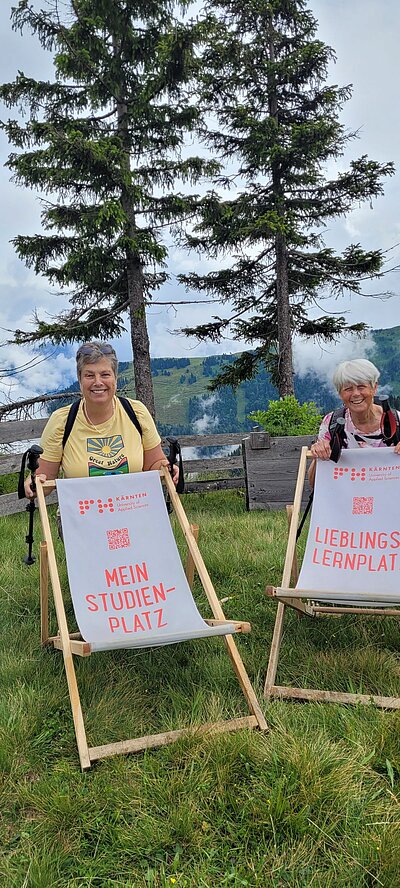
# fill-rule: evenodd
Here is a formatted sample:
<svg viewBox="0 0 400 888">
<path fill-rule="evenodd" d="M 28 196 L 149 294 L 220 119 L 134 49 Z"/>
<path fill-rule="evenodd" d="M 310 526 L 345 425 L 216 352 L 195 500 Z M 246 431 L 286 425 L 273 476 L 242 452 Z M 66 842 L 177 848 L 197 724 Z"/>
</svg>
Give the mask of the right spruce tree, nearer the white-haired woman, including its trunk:
<svg viewBox="0 0 400 888">
<path fill-rule="evenodd" d="M 351 88 L 327 84 L 334 52 L 316 39 L 305 0 L 210 0 L 208 12 L 214 34 L 202 59 L 202 101 L 216 121 L 208 144 L 227 166 L 188 243 L 222 267 L 181 280 L 230 313 L 184 332 L 220 341 L 229 331 L 258 343 L 211 388 L 251 378 L 264 363 L 285 396 L 293 392 L 294 335 L 332 341 L 365 328 L 328 313 L 311 317 L 324 297 L 360 293 L 382 274 L 381 250 L 349 244 L 339 254 L 324 229 L 382 194 L 394 168 L 364 155 L 329 177 L 327 165 L 356 135 L 339 119 Z"/>
</svg>

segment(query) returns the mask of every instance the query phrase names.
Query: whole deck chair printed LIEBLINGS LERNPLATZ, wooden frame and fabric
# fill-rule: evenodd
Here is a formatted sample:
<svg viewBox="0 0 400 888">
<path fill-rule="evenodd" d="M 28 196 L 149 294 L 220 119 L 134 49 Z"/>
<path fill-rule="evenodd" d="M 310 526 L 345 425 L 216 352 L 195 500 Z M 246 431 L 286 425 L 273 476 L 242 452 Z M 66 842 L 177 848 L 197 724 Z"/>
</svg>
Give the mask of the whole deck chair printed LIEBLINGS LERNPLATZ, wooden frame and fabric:
<svg viewBox="0 0 400 888">
<path fill-rule="evenodd" d="M 362 448 L 342 450 L 337 464 L 317 462 L 313 508 L 299 575 L 296 537 L 309 458 L 310 451 L 303 447 L 294 503 L 288 507 L 282 585 L 266 590 L 278 601 L 278 607 L 264 696 L 374 703 L 385 709 L 399 709 L 398 697 L 275 684 L 286 607 L 306 617 L 338 617 L 345 613 L 400 616 L 399 457 L 386 447 Z"/>
</svg>

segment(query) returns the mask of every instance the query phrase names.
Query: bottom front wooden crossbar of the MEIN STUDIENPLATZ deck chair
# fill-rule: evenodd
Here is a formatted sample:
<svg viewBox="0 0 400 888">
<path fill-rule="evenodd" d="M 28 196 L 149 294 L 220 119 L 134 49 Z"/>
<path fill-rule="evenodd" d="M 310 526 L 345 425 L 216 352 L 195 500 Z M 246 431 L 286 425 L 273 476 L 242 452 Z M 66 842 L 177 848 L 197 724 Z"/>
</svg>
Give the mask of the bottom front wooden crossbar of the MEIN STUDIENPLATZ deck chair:
<svg viewBox="0 0 400 888">
<path fill-rule="evenodd" d="M 254 715 L 248 715 L 244 718 L 234 718 L 229 721 L 215 722 L 214 724 L 180 728 L 177 731 L 165 731 L 163 734 L 148 734 L 145 737 L 120 740 L 117 743 L 107 743 L 103 746 L 90 746 L 89 756 L 91 762 L 96 762 L 111 755 L 123 755 L 127 752 L 141 752 L 143 749 L 167 746 L 169 743 L 175 743 L 181 737 L 192 737 L 197 734 L 222 734 L 226 731 L 244 731 L 247 728 L 256 727 L 257 719 Z"/>
</svg>

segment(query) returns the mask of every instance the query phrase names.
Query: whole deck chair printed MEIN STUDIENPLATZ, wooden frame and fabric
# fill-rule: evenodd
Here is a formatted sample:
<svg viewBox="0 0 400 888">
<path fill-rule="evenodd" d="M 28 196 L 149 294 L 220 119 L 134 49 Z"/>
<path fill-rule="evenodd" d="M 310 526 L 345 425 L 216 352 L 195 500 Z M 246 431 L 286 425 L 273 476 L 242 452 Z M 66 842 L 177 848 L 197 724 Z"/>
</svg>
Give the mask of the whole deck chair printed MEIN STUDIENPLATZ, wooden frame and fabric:
<svg viewBox="0 0 400 888">
<path fill-rule="evenodd" d="M 167 514 L 161 480 L 188 546 L 187 574 L 196 569 L 213 618 L 203 620 L 192 597 Z M 78 633 L 70 633 L 45 494 L 57 486 L 68 580 Z M 37 483 L 44 541 L 40 546 L 41 640 L 63 653 L 82 770 L 117 753 L 172 743 L 189 729 L 89 746 L 73 655 L 144 648 L 223 635 L 250 715 L 196 727 L 202 732 L 267 725 L 239 655 L 233 633 L 249 623 L 227 621 L 170 474 L 145 472 Z M 154 523 L 155 522 L 155 523 Z M 84 570 L 83 570 L 84 567 Z M 49 635 L 49 576 L 58 632 Z"/>
</svg>

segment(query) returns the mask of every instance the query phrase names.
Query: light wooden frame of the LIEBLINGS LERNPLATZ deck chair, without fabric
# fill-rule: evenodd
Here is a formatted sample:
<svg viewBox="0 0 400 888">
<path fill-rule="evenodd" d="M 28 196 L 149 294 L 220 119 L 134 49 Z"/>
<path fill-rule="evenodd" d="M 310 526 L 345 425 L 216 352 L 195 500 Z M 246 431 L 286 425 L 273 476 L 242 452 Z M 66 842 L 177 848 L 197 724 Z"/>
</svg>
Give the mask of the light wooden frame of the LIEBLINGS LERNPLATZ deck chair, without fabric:
<svg viewBox="0 0 400 888">
<path fill-rule="evenodd" d="M 267 586 L 266 594 L 278 601 L 274 632 L 269 655 L 267 675 L 264 685 L 264 697 L 278 697 L 283 700 L 306 700 L 309 702 L 322 701 L 325 703 L 362 703 L 375 704 L 382 709 L 400 709 L 400 697 L 384 697 L 375 694 L 350 694 L 337 691 L 325 691 L 317 688 L 296 688 L 284 685 L 276 685 L 276 673 L 278 669 L 279 651 L 282 641 L 283 620 L 286 607 L 294 608 L 299 615 L 309 617 L 322 617 L 342 614 L 364 614 L 366 616 L 400 617 L 399 609 L 388 607 L 367 606 L 340 606 L 324 605 L 316 601 L 317 594 L 314 591 L 297 590 L 298 562 L 296 550 L 296 534 L 299 524 L 299 515 L 303 496 L 303 488 L 307 470 L 307 459 L 311 458 L 311 452 L 303 447 L 300 456 L 297 483 L 293 506 L 287 507 L 288 513 L 288 542 L 286 548 L 285 564 L 283 568 L 282 585 L 280 587 Z M 335 594 L 335 598 L 348 600 L 350 592 Z"/>
</svg>

